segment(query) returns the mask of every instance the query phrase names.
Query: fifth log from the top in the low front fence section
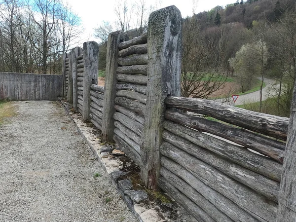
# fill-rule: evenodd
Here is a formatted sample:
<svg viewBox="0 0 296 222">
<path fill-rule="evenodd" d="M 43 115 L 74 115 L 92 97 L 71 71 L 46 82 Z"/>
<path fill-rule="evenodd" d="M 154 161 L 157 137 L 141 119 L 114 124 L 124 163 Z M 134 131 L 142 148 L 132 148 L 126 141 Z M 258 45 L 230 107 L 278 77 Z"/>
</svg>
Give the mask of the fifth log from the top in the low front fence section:
<svg viewBox="0 0 296 222">
<path fill-rule="evenodd" d="M 233 180 L 211 165 L 193 157 L 172 144 L 163 143 L 160 151 L 164 156 L 185 167 L 203 183 L 238 204 L 259 221 L 275 221 L 277 211 L 277 204 L 275 202 L 258 195 L 254 190 Z"/>
</svg>

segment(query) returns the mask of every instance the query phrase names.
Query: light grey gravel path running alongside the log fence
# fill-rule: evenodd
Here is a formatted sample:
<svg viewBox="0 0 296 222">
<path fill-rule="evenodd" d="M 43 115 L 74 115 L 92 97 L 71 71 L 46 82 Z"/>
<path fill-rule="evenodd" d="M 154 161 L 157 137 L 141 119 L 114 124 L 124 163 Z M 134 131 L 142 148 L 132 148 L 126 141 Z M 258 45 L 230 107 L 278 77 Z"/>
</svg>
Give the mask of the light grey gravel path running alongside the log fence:
<svg viewBox="0 0 296 222">
<path fill-rule="evenodd" d="M 0 126 L 0 222 L 136 222 L 59 103 L 14 104 Z"/>
</svg>

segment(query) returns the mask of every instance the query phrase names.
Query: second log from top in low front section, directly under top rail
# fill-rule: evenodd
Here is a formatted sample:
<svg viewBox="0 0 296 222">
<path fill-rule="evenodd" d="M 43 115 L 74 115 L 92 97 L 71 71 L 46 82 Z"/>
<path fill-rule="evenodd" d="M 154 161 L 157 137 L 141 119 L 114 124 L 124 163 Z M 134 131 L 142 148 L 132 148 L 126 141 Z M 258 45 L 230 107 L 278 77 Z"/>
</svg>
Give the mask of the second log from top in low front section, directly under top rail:
<svg viewBox="0 0 296 222">
<path fill-rule="evenodd" d="M 188 115 L 183 112 L 166 110 L 164 116 L 168 120 L 222 137 L 245 148 L 258 151 L 280 163 L 283 162 L 285 143 L 280 141 L 261 136 L 246 129 Z"/>
</svg>

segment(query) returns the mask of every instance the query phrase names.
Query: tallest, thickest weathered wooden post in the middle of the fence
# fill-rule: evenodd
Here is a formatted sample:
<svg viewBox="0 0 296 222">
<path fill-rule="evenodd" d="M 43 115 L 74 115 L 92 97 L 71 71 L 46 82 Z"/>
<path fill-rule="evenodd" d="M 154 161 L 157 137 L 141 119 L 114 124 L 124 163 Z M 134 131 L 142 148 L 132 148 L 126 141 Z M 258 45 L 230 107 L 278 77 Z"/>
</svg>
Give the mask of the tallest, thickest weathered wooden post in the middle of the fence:
<svg viewBox="0 0 296 222">
<path fill-rule="evenodd" d="M 148 88 L 143 129 L 141 177 L 157 188 L 160 169 L 164 99 L 181 96 L 182 16 L 172 5 L 152 12 L 148 21 Z"/>
</svg>

